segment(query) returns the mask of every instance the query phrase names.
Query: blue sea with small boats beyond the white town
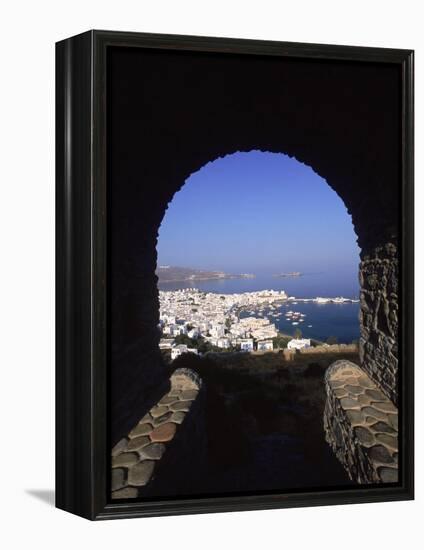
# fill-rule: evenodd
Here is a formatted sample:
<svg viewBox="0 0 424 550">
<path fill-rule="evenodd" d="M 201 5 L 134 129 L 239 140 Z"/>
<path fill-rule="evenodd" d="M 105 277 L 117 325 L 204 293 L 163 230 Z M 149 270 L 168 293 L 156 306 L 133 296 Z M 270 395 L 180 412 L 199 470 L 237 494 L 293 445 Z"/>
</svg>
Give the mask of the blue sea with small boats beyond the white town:
<svg viewBox="0 0 424 550">
<path fill-rule="evenodd" d="M 284 290 L 289 296 L 296 298 L 316 298 L 317 296 L 357 299 L 359 297 L 359 282 L 356 274 L 351 271 L 331 271 L 323 273 L 305 273 L 300 277 L 274 277 L 272 274 L 260 274 L 254 279 L 223 279 L 211 281 L 194 281 L 193 283 L 161 283 L 160 290 L 178 290 L 194 287 L 205 292 L 219 294 L 234 294 L 253 292 L 256 290 Z M 305 314 L 304 322 L 292 325 L 284 313 L 297 311 Z M 335 336 L 340 343 L 350 343 L 359 338 L 359 304 L 317 304 L 314 302 L 289 302 L 283 304 L 278 311 L 280 317 L 269 317 L 279 330 L 293 334 L 296 329 L 302 331 L 305 338 L 326 340 Z M 268 316 L 268 310 L 264 310 Z M 312 325 L 312 326 L 308 326 Z"/>
</svg>

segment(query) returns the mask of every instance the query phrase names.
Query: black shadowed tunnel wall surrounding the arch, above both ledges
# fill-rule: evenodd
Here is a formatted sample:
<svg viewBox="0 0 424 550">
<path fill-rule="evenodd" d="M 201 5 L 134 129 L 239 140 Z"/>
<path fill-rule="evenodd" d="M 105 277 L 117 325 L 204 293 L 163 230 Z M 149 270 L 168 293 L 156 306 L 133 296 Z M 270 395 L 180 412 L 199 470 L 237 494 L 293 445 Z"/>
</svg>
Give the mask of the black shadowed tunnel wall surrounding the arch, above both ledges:
<svg viewBox="0 0 424 550">
<path fill-rule="evenodd" d="M 396 400 L 400 76 L 391 64 L 109 50 L 112 442 L 166 379 L 155 269 L 167 205 L 236 151 L 294 156 L 344 201 L 362 251 L 362 361 Z"/>
</svg>

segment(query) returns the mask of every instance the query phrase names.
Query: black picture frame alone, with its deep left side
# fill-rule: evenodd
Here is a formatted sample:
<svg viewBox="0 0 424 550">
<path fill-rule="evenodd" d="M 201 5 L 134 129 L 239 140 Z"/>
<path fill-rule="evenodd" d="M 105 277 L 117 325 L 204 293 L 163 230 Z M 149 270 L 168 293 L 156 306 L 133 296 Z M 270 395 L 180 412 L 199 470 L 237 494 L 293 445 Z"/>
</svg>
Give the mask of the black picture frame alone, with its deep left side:
<svg viewBox="0 0 424 550">
<path fill-rule="evenodd" d="M 401 70 L 401 433 L 396 486 L 109 502 L 106 56 L 154 48 L 396 64 Z M 413 52 L 89 31 L 56 45 L 56 506 L 91 520 L 413 499 Z"/>
</svg>

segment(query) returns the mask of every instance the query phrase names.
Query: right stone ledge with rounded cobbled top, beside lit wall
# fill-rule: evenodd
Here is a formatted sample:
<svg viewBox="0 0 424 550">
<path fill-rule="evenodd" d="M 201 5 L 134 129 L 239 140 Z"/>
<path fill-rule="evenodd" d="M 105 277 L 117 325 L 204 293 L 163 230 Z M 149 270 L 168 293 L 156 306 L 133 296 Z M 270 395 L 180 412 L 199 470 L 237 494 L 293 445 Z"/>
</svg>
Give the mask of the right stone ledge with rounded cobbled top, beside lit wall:
<svg viewBox="0 0 424 550">
<path fill-rule="evenodd" d="M 341 360 L 325 374 L 326 440 L 358 483 L 398 481 L 398 411 L 357 365 Z"/>
</svg>

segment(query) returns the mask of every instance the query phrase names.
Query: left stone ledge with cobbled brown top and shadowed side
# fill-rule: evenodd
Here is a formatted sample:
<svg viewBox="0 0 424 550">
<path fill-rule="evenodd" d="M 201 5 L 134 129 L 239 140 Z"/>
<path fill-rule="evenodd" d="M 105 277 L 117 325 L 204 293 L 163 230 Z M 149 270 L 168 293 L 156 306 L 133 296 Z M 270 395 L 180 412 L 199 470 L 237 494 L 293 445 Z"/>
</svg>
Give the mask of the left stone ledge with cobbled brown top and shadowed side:
<svg viewBox="0 0 424 550">
<path fill-rule="evenodd" d="M 113 447 L 112 499 L 178 491 L 175 483 L 184 478 L 186 467 L 195 471 L 196 448 L 204 449 L 199 440 L 204 434 L 202 401 L 200 377 L 177 369 L 170 390 Z"/>
</svg>

